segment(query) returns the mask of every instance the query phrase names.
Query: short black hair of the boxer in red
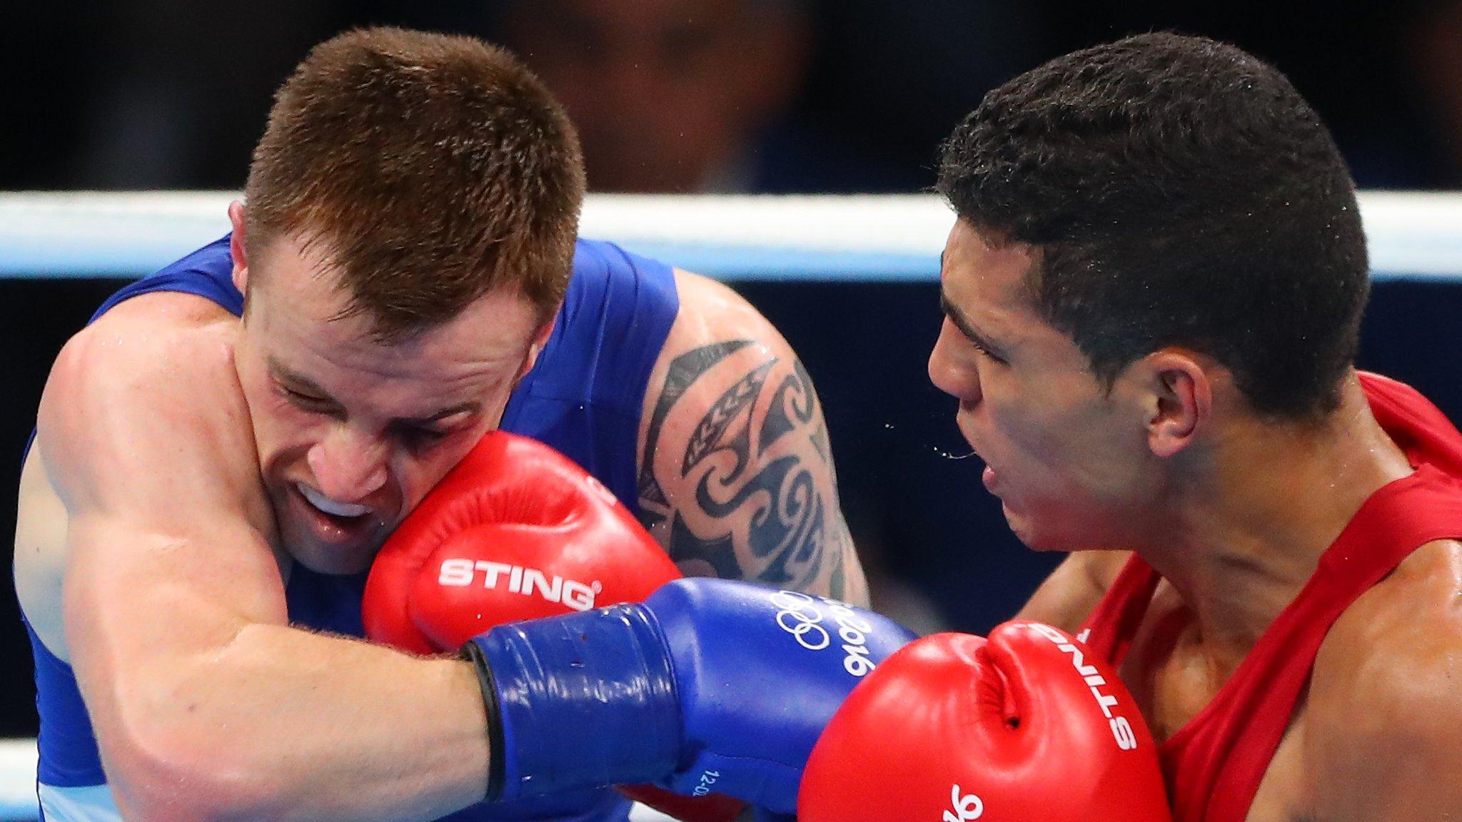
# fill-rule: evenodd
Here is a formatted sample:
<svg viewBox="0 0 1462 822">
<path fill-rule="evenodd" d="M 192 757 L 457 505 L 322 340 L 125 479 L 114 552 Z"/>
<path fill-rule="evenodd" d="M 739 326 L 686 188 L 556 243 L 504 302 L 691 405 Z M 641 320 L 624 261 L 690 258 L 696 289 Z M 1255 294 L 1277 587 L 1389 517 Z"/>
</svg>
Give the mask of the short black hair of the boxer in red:
<svg viewBox="0 0 1462 822">
<path fill-rule="evenodd" d="M 1108 388 L 1180 345 L 1257 412 L 1338 407 L 1370 290 L 1355 184 L 1273 66 L 1175 34 L 1058 57 L 955 129 L 939 190 L 987 240 L 1034 247 L 1034 304 Z"/>
</svg>

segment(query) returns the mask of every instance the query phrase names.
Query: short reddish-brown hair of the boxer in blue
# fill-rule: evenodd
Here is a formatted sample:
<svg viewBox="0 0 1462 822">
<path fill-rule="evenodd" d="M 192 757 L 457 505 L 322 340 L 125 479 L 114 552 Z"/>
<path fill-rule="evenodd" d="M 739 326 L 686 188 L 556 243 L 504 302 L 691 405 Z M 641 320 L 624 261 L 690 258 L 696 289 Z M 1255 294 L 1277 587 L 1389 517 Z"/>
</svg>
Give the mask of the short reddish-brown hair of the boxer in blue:
<svg viewBox="0 0 1462 822">
<path fill-rule="evenodd" d="M 251 256 L 325 250 L 382 341 L 516 288 L 544 319 L 567 287 L 583 159 L 512 54 L 395 28 L 317 45 L 275 97 L 246 197 Z M 257 257 L 256 257 L 257 259 Z"/>
</svg>

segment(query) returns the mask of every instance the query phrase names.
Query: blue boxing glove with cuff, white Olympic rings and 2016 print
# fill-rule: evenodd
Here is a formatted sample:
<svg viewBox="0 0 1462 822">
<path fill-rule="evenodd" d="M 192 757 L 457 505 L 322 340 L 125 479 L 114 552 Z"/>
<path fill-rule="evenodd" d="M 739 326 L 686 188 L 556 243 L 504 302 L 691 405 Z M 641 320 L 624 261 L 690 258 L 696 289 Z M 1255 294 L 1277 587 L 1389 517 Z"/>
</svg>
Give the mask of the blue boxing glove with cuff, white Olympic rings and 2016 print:
<svg viewBox="0 0 1462 822">
<path fill-rule="evenodd" d="M 823 727 L 912 639 L 835 600 L 722 579 L 494 627 L 463 648 L 487 704 L 488 799 L 655 783 L 794 813 Z"/>
</svg>

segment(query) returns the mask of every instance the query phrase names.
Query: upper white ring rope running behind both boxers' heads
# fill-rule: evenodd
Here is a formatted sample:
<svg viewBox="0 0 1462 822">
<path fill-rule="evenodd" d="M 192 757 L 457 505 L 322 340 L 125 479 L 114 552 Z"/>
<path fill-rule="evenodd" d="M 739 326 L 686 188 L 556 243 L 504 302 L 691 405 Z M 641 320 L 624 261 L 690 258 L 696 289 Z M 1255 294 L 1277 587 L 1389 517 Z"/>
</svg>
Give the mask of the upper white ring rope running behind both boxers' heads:
<svg viewBox="0 0 1462 822">
<path fill-rule="evenodd" d="M 137 276 L 228 231 L 232 192 L 0 193 L 0 278 Z M 1366 192 L 1377 276 L 1462 278 L 1462 195 Z M 722 278 L 931 281 L 933 195 L 592 195 L 580 231 Z"/>
</svg>

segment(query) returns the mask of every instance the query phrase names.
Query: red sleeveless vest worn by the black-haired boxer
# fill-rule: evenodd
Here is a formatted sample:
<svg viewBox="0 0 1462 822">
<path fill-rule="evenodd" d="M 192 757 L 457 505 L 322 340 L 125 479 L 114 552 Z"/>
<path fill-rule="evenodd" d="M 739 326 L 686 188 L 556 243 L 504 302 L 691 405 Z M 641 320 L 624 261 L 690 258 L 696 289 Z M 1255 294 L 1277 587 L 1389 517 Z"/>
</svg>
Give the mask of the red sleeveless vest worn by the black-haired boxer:
<svg viewBox="0 0 1462 822">
<path fill-rule="evenodd" d="M 1158 747 L 1174 822 L 1243 822 L 1341 613 L 1425 543 L 1462 538 L 1462 433 L 1415 389 L 1361 373 L 1371 412 L 1417 468 L 1355 512 L 1218 695 Z M 1133 556 L 1083 626 L 1120 664 L 1158 573 Z"/>
</svg>

